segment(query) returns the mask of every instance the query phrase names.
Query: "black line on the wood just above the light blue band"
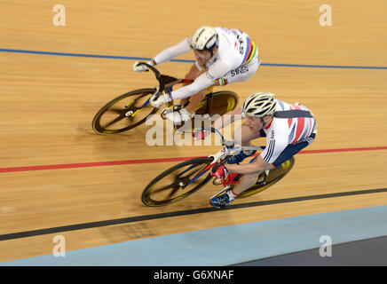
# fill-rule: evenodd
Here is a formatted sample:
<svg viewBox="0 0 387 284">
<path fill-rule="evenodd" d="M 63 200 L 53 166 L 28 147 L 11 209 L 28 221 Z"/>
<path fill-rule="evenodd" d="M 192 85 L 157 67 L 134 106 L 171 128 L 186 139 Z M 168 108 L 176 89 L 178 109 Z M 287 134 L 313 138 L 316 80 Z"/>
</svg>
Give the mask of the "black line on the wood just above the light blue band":
<svg viewBox="0 0 387 284">
<path fill-rule="evenodd" d="M 343 196 L 369 194 L 369 193 L 386 193 L 386 192 L 387 192 L 387 188 L 367 189 L 367 190 L 359 190 L 359 191 L 344 192 L 344 193 L 327 193 L 327 194 L 277 199 L 272 201 L 256 201 L 256 202 L 248 202 L 248 203 L 241 203 L 241 204 L 232 204 L 225 207 L 225 209 L 215 209 L 212 207 L 208 207 L 208 208 L 189 209 L 189 210 L 181 210 L 181 211 L 159 213 L 159 214 L 150 214 L 150 215 L 143 215 L 143 216 L 137 216 L 137 217 L 125 217 L 125 218 L 91 222 L 91 223 L 63 225 L 59 227 L 45 228 L 40 230 L 32 230 L 32 231 L 19 232 L 19 233 L 6 233 L 6 234 L 0 235 L 0 241 L 35 237 L 35 236 L 50 234 L 50 233 L 63 233 L 63 232 L 69 232 L 69 231 L 98 228 L 98 227 L 107 226 L 107 225 L 128 224 L 128 223 L 134 223 L 139 221 L 161 219 L 166 217 L 178 217 L 178 216 L 184 216 L 184 215 L 208 213 L 208 212 L 214 212 L 218 210 L 242 209 L 242 208 L 290 203 L 290 202 L 297 202 L 297 201 L 312 201 L 312 200 L 319 200 L 324 198 L 343 197 Z"/>
</svg>

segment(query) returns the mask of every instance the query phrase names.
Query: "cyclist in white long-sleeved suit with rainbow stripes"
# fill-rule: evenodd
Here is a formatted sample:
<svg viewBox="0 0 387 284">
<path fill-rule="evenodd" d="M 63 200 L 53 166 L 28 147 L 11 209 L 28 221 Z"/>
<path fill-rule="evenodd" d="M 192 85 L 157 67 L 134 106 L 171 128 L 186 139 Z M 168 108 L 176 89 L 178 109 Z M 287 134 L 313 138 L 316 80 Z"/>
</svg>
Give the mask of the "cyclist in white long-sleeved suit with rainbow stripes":
<svg viewBox="0 0 387 284">
<path fill-rule="evenodd" d="M 208 26 L 198 28 L 193 36 L 160 52 L 147 63 L 156 66 L 191 50 L 194 51 L 196 60 L 185 79 L 194 80 L 194 83 L 184 84 L 176 91 L 150 100 L 154 107 L 180 100 L 174 102 L 175 106 L 180 106 L 175 107 L 175 111 L 173 108 L 163 110 L 166 118 L 176 124 L 186 122 L 194 116 L 196 106 L 204 99 L 209 88 L 246 81 L 257 72 L 260 64 L 257 44 L 249 35 L 239 29 Z M 148 68 L 136 61 L 133 70 L 142 72 Z M 189 99 L 189 104 L 182 107 Z"/>
</svg>

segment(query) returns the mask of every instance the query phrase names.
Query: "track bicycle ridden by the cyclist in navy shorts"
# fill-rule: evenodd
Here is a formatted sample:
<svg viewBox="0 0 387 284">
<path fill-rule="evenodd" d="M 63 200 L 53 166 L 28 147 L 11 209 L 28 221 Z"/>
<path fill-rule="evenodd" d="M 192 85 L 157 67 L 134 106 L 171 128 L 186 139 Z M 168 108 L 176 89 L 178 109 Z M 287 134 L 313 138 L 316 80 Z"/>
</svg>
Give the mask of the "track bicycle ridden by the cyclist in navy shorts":
<svg viewBox="0 0 387 284">
<path fill-rule="evenodd" d="M 222 134 L 214 128 L 203 128 L 212 133 L 216 133 L 222 143 L 222 150 L 217 154 L 211 154 L 207 157 L 198 157 L 165 170 L 155 177 L 141 195 L 141 201 L 147 206 L 163 206 L 173 202 L 181 201 L 187 196 L 197 192 L 212 179 L 210 170 L 215 172 L 217 167 L 228 161 L 233 155 L 241 153 L 243 150 L 265 149 L 265 146 L 235 146 L 233 141 L 227 141 Z M 249 162 L 253 162 L 255 158 Z M 294 157 L 283 162 L 275 169 L 266 170 L 257 176 L 257 183 L 249 189 L 240 193 L 237 199 L 249 197 L 256 193 L 261 193 L 265 189 L 277 183 L 282 177 L 285 177 L 293 168 Z M 233 188 L 240 181 L 241 174 L 228 174 L 226 177 L 212 180 L 213 185 L 223 185 L 224 188 L 214 194 L 212 197 L 223 194 L 226 190 Z"/>
</svg>

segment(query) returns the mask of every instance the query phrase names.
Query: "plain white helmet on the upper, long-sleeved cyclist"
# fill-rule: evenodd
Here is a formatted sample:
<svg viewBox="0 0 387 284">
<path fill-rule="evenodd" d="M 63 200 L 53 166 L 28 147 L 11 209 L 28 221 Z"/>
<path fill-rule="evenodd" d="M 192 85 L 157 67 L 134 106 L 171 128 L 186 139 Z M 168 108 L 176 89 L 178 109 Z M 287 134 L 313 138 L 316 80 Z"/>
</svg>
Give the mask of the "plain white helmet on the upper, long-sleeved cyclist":
<svg viewBox="0 0 387 284">
<path fill-rule="evenodd" d="M 219 45 L 219 38 L 215 28 L 202 26 L 196 29 L 191 37 L 191 48 L 196 51 L 210 51 L 211 55 L 216 46 Z"/>
</svg>

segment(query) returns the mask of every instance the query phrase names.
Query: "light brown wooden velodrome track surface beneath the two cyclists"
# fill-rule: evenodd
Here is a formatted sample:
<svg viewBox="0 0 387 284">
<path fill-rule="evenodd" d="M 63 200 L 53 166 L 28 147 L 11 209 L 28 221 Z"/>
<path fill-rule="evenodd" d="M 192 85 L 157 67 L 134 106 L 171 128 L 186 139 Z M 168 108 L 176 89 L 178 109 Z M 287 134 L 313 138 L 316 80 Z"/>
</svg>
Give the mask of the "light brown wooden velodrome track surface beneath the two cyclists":
<svg viewBox="0 0 387 284">
<path fill-rule="evenodd" d="M 67 250 L 170 233 L 281 217 L 387 204 L 385 191 L 163 217 L 59 232 L 22 233 L 67 225 L 209 207 L 201 191 L 162 208 L 140 201 L 147 183 L 176 162 L 90 166 L 92 162 L 194 157 L 219 146 L 147 146 L 142 125 L 100 136 L 91 120 L 116 96 L 154 86 L 150 74 L 131 70 L 132 59 L 54 56 L 51 51 L 151 58 L 202 24 L 240 28 L 258 45 L 263 66 L 245 83 L 231 84 L 241 101 L 254 91 L 302 102 L 312 109 L 319 135 L 296 155 L 277 185 L 235 204 L 317 194 L 383 189 L 387 185 L 387 4 L 329 1 L 332 26 L 321 27 L 320 1 L 107 1 L 65 0 L 66 26 L 55 27 L 57 1 L 0 4 L 0 261 L 51 254 L 55 235 Z M 178 59 L 193 59 L 186 54 Z M 284 67 L 269 63 L 341 66 Z M 183 76 L 191 63 L 170 62 L 164 74 Z M 346 67 L 345 67 L 346 66 Z M 241 104 L 241 102 L 240 102 Z M 261 142 L 264 143 L 264 142 Z M 259 144 L 259 141 L 257 142 Z M 313 150 L 313 151 L 312 151 Z M 327 150 L 327 151 L 326 151 Z M 74 165 L 77 164 L 77 165 Z M 62 165 L 40 170 L 42 165 Z M 66 168 L 73 165 L 73 168 Z M 31 167 L 31 168 L 21 168 Z M 12 236 L 12 235 L 11 235 Z"/>
</svg>

